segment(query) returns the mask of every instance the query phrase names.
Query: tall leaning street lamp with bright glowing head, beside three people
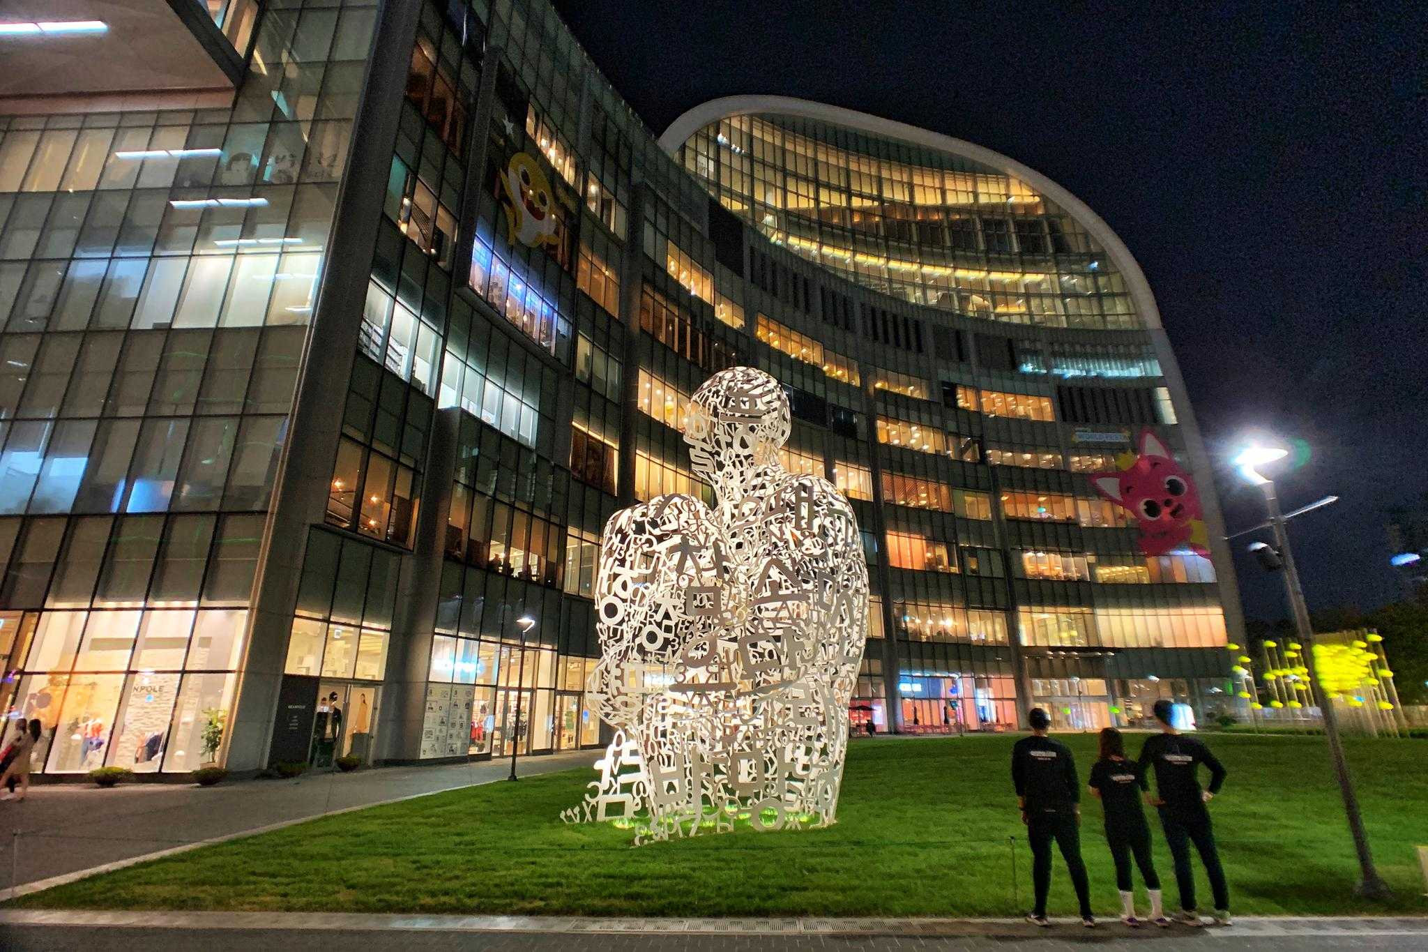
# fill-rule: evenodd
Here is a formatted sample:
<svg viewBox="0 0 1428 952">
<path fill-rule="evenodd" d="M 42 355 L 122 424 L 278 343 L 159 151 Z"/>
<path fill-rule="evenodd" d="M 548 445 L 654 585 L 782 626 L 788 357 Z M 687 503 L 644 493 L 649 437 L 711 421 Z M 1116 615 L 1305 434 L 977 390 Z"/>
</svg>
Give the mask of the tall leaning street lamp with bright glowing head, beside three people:
<svg viewBox="0 0 1428 952">
<path fill-rule="evenodd" d="M 1354 792 L 1354 779 L 1348 772 L 1348 762 L 1344 759 L 1344 745 L 1339 742 L 1338 718 L 1334 704 L 1324 697 L 1319 687 L 1314 662 L 1314 629 L 1309 625 L 1309 609 L 1304 602 L 1304 589 L 1299 587 L 1299 572 L 1294 567 L 1294 554 L 1289 551 L 1289 535 L 1284 528 L 1284 515 L 1279 512 L 1279 497 L 1274 492 L 1274 482 L 1261 475 L 1255 467 L 1275 460 L 1282 460 L 1288 452 L 1269 447 L 1250 447 L 1235 457 L 1241 475 L 1264 491 L 1265 505 L 1269 511 L 1269 528 L 1274 531 L 1274 547 L 1278 550 L 1279 561 L 1284 565 L 1284 588 L 1289 597 L 1289 609 L 1294 612 L 1294 628 L 1299 634 L 1304 645 L 1304 667 L 1308 668 L 1311 697 L 1319 702 L 1319 714 L 1324 718 L 1324 736 L 1329 745 L 1329 759 L 1334 762 L 1334 774 L 1338 778 L 1339 794 L 1344 796 L 1344 812 L 1348 816 L 1348 829 L 1354 836 L 1354 851 L 1358 854 L 1359 882 L 1354 892 L 1368 899 L 1389 899 L 1392 891 L 1382 881 L 1374 868 L 1374 855 L 1368 848 L 1368 834 L 1364 829 L 1364 818 L 1358 811 L 1358 795 Z"/>
</svg>

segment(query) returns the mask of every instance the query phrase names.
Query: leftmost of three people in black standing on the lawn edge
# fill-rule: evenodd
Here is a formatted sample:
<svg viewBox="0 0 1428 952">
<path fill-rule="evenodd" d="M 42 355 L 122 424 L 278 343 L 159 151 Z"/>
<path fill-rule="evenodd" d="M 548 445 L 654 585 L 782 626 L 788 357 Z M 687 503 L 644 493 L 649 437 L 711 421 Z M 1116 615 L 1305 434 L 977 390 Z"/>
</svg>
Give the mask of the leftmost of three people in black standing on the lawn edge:
<svg viewBox="0 0 1428 952">
<path fill-rule="evenodd" d="M 1024 736 L 1011 748 L 1011 782 L 1017 788 L 1017 805 L 1021 806 L 1021 822 L 1027 825 L 1027 841 L 1031 844 L 1031 881 L 1037 893 L 1037 905 L 1027 915 L 1030 922 L 1048 926 L 1047 892 L 1051 889 L 1051 841 L 1061 848 L 1081 903 L 1081 922 L 1088 929 L 1095 928 L 1091 915 L 1091 886 L 1085 876 L 1085 862 L 1081 859 L 1081 785 L 1075 778 L 1075 761 L 1065 744 L 1047 736 L 1051 718 L 1041 708 L 1032 708 L 1027 715 L 1031 736 Z"/>
</svg>

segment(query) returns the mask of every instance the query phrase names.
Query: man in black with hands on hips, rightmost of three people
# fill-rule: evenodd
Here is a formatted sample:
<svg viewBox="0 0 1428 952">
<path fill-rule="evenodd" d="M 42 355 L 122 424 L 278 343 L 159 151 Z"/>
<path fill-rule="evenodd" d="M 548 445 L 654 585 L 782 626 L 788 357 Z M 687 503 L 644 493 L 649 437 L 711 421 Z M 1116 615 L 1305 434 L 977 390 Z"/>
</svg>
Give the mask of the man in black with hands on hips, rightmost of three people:
<svg viewBox="0 0 1428 952">
<path fill-rule="evenodd" d="M 1175 883 L 1180 886 L 1181 913 L 1177 921 L 1185 925 L 1200 925 L 1195 911 L 1195 876 L 1190 868 L 1190 844 L 1195 844 L 1200 861 L 1205 864 L 1210 889 L 1215 893 L 1215 922 L 1230 925 L 1230 888 L 1225 885 L 1225 871 L 1220 866 L 1220 852 L 1215 849 L 1215 832 L 1210 825 L 1210 802 L 1225 782 L 1225 768 L 1215 759 L 1201 741 L 1184 736 L 1171 726 L 1174 705 L 1167 698 L 1155 702 L 1154 714 L 1161 732 L 1150 736 L 1141 746 L 1141 769 L 1155 768 L 1157 799 L 1165 842 L 1175 858 Z M 1200 789 L 1197 776 L 1200 765 L 1210 768 L 1210 788 Z"/>
</svg>

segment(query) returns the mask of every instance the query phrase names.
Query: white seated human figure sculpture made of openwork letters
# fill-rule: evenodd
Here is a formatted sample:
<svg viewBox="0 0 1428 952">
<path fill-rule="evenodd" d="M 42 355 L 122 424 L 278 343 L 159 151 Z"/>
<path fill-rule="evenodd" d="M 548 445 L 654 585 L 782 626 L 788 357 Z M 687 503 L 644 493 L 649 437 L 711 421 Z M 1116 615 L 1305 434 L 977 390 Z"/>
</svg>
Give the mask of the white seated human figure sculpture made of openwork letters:
<svg viewBox="0 0 1428 952">
<path fill-rule="evenodd" d="M 567 822 L 620 819 L 638 845 L 835 821 L 868 571 L 848 501 L 780 465 L 788 432 L 778 381 L 715 374 L 684 432 L 715 507 L 661 495 L 605 525 L 587 697 L 615 735 Z"/>
</svg>

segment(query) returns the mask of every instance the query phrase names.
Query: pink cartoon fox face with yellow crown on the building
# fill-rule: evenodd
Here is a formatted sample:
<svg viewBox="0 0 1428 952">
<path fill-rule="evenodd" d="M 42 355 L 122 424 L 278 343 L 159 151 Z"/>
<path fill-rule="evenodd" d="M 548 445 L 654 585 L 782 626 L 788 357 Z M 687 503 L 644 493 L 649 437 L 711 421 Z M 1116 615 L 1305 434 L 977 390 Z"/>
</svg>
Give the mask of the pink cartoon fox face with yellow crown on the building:
<svg viewBox="0 0 1428 952">
<path fill-rule="evenodd" d="M 1091 485 L 1135 515 L 1141 527 L 1141 551 L 1147 555 L 1164 555 L 1181 547 L 1210 555 L 1195 482 L 1150 430 L 1141 431 L 1134 461 L 1118 472 L 1092 472 Z"/>
</svg>

